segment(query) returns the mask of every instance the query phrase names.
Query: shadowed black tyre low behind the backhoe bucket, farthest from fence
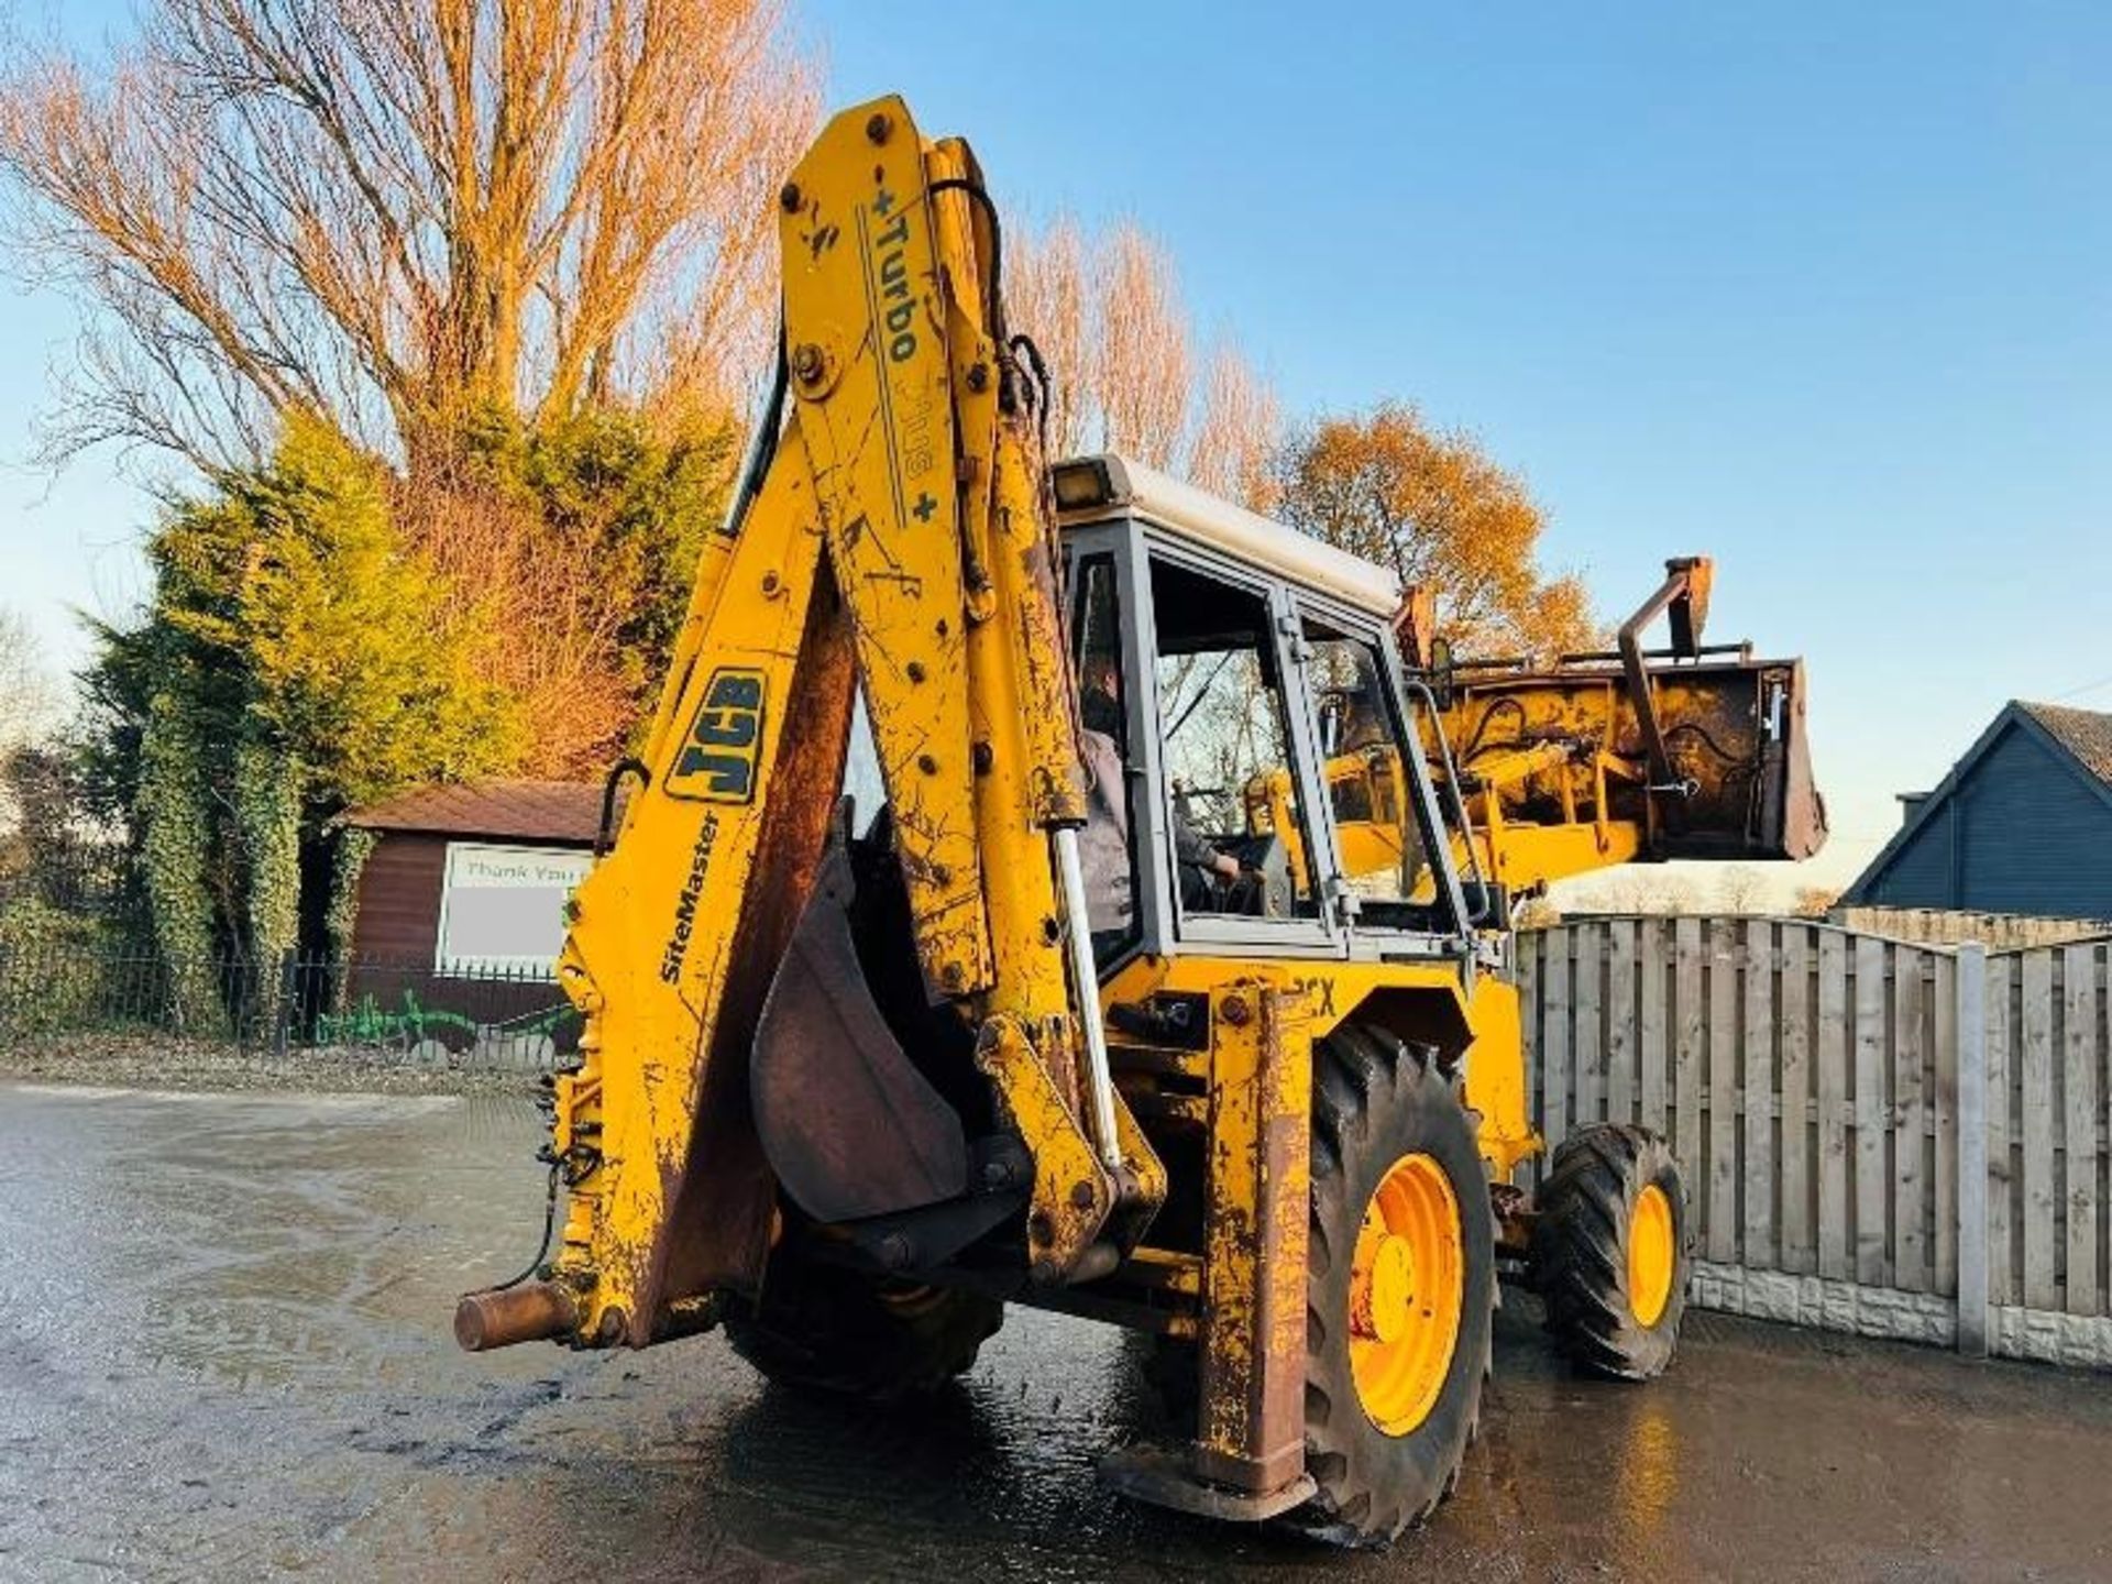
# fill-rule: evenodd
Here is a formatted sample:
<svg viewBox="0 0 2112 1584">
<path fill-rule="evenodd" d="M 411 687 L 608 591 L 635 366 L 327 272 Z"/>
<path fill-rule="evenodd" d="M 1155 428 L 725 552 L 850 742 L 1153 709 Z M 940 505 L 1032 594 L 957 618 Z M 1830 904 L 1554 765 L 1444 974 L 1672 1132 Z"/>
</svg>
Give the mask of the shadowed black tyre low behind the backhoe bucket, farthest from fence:
<svg viewBox="0 0 2112 1584">
<path fill-rule="evenodd" d="M 786 1242 L 762 1297 L 727 1314 L 727 1341 L 781 1385 L 898 1402 L 965 1375 L 1003 1318 L 982 1293 L 864 1276 Z"/>
</svg>

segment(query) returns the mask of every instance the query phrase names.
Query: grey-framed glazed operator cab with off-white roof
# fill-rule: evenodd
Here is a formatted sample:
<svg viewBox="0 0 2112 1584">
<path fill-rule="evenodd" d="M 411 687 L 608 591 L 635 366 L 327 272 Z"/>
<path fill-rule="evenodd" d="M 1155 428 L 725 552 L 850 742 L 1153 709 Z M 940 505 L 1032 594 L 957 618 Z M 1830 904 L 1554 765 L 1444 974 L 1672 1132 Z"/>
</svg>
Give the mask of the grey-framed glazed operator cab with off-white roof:
<svg viewBox="0 0 2112 1584">
<path fill-rule="evenodd" d="M 1052 482 L 1102 974 L 1136 950 L 1466 955 L 1392 574 L 1121 456 Z"/>
</svg>

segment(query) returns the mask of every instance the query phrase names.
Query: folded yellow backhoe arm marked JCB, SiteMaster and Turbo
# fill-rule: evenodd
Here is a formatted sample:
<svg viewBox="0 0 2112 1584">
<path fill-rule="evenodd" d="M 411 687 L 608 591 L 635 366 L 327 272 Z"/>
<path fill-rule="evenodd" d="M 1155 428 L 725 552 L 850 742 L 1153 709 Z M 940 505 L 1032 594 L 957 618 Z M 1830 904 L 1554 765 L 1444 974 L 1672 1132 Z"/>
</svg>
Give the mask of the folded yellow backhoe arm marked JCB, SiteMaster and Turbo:
<svg viewBox="0 0 2112 1584">
<path fill-rule="evenodd" d="M 862 106 L 784 186 L 779 241 L 792 410 L 781 433 L 767 418 L 760 482 L 703 553 L 646 784 L 560 959 L 585 1012 L 581 1069 L 553 1090 L 562 1244 L 545 1280 L 465 1299 L 465 1345 L 636 1347 L 758 1288 L 777 1183 L 750 1050 L 815 887 L 853 684 L 927 993 L 1033 1153 L 1037 1280 L 1164 1195 L 1107 1081 L 1067 887 L 1083 781 L 1041 393 L 1005 344 L 980 171 L 900 99 Z"/>
</svg>

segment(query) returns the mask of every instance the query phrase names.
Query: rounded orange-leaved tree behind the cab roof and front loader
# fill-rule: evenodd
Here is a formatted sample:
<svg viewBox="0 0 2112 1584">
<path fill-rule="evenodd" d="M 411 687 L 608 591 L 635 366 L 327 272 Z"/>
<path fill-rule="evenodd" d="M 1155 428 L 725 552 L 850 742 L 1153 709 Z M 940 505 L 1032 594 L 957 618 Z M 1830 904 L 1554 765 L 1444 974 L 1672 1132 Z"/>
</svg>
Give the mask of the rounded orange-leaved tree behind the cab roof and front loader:
<svg viewBox="0 0 2112 1584">
<path fill-rule="evenodd" d="M 1385 403 L 1324 418 L 1276 467 L 1276 513 L 1352 555 L 1436 589 L 1436 636 L 1459 655 L 1597 646 L 1584 583 L 1540 566 L 1546 517 L 1525 484 L 1462 433 Z"/>
</svg>

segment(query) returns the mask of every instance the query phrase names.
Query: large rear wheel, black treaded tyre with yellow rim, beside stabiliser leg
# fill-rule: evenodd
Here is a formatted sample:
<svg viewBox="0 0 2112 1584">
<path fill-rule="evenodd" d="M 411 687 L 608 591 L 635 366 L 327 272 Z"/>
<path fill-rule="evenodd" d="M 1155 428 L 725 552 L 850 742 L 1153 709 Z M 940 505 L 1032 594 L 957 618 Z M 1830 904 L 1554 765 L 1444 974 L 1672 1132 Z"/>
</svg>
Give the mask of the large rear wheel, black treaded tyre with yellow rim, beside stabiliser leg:
<svg viewBox="0 0 2112 1584">
<path fill-rule="evenodd" d="M 1369 1024 L 1314 1045 L 1305 1470 L 1293 1514 L 1350 1546 L 1423 1523 L 1459 1483 L 1497 1303 L 1474 1117 L 1436 1052 Z"/>
</svg>

